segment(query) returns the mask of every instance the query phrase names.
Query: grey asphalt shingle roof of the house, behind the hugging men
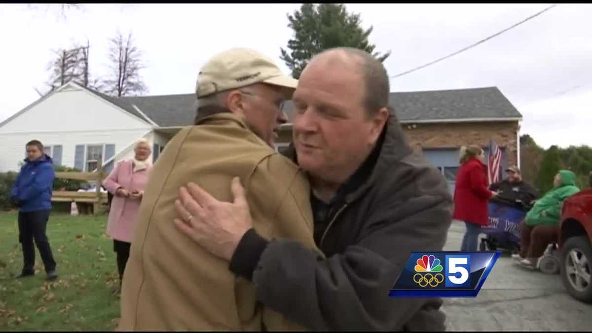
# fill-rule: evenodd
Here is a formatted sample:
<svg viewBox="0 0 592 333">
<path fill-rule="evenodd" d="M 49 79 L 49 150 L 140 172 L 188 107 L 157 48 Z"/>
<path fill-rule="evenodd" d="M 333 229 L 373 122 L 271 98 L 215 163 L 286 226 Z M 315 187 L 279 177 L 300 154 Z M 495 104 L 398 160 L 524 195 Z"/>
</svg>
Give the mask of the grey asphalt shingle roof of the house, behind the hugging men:
<svg viewBox="0 0 592 333">
<path fill-rule="evenodd" d="M 162 127 L 188 126 L 195 118 L 195 94 L 115 98 L 92 92 L 144 119 L 134 109 L 135 104 Z M 497 87 L 391 92 L 390 105 L 401 121 L 522 117 Z M 284 111 L 291 121 L 292 103 L 288 101 Z"/>
</svg>

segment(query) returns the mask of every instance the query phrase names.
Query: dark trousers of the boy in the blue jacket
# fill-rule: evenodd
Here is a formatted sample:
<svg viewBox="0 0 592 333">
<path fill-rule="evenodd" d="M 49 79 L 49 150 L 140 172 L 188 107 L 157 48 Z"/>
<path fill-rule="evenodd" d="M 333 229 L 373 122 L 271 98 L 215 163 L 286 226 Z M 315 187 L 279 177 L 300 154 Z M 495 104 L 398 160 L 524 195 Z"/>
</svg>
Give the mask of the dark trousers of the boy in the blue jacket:
<svg viewBox="0 0 592 333">
<path fill-rule="evenodd" d="M 38 210 L 37 212 L 18 213 L 18 241 L 22 244 L 22 273 L 34 273 L 35 245 L 39 249 L 45 271 L 56 270 L 56 261 L 53 260 L 52 248 L 47 239 L 47 220 L 51 210 Z"/>
</svg>

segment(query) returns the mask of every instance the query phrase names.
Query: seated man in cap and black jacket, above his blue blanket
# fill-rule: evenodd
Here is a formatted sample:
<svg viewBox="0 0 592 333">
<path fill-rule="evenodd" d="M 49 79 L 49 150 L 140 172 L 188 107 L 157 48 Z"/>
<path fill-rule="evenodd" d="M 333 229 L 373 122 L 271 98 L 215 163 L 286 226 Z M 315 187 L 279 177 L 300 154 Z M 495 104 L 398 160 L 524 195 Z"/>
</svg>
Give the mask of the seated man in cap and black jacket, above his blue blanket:
<svg viewBox="0 0 592 333">
<path fill-rule="evenodd" d="M 507 178 L 490 185 L 491 191 L 496 191 L 498 195 L 491 198 L 496 203 L 516 207 L 527 212 L 539 197 L 539 191 L 522 180 L 520 169 L 516 165 L 506 169 Z"/>
</svg>

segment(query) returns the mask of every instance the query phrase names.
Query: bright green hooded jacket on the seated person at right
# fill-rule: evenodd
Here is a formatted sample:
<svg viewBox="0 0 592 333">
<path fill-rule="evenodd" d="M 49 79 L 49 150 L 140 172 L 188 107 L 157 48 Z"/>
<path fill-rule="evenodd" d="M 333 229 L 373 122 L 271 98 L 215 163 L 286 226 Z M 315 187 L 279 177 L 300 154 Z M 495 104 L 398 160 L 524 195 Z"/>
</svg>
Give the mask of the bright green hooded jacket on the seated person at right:
<svg viewBox="0 0 592 333">
<path fill-rule="evenodd" d="M 548 191 L 536 201 L 535 206 L 526 214 L 526 225 L 558 225 L 563 201 L 580 191 L 575 186 L 575 174 L 569 170 L 559 170 L 561 186 Z M 546 216 L 541 216 L 543 212 Z"/>
</svg>

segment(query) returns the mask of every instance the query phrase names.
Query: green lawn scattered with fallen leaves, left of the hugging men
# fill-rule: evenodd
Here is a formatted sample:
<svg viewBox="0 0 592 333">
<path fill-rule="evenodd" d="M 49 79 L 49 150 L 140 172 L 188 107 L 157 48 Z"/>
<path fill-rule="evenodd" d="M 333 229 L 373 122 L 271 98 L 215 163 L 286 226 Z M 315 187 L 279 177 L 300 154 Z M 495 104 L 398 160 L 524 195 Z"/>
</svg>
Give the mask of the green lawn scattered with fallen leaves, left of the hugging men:
<svg viewBox="0 0 592 333">
<path fill-rule="evenodd" d="M 112 331 L 119 318 L 115 253 L 107 216 L 52 213 L 47 236 L 60 277 L 45 281 L 36 248 L 36 275 L 22 268 L 17 213 L 0 213 L 0 331 Z"/>
</svg>

